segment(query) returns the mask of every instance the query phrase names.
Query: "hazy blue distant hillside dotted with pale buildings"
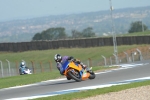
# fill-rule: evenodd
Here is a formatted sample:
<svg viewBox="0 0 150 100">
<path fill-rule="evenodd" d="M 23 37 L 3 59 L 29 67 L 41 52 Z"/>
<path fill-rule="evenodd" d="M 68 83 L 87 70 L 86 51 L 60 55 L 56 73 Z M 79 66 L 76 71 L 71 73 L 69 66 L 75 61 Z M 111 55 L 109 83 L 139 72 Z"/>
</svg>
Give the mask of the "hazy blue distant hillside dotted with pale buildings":
<svg viewBox="0 0 150 100">
<path fill-rule="evenodd" d="M 150 6 L 116 9 L 113 11 L 113 22 L 117 34 L 127 33 L 130 23 L 142 20 L 150 28 Z M 13 20 L 0 23 L 0 42 L 31 41 L 34 34 L 51 27 L 64 27 L 67 34 L 92 27 L 98 36 L 111 31 L 110 11 L 98 11 L 81 14 L 45 16 L 40 18 Z"/>
</svg>

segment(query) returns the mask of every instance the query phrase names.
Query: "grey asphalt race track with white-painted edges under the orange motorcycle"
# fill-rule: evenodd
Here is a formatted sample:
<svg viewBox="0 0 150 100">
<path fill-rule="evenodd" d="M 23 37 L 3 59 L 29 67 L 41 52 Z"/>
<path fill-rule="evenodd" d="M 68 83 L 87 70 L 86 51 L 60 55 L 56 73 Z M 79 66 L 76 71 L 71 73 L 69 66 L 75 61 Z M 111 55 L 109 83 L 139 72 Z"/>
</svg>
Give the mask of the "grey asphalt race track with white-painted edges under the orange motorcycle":
<svg viewBox="0 0 150 100">
<path fill-rule="evenodd" d="M 131 64 L 122 64 L 119 69 L 96 73 L 96 78 L 76 82 L 74 80 L 49 80 L 31 85 L 0 89 L 0 100 L 49 94 L 72 88 L 89 87 L 120 82 L 130 79 L 150 77 L 150 60 Z"/>
</svg>

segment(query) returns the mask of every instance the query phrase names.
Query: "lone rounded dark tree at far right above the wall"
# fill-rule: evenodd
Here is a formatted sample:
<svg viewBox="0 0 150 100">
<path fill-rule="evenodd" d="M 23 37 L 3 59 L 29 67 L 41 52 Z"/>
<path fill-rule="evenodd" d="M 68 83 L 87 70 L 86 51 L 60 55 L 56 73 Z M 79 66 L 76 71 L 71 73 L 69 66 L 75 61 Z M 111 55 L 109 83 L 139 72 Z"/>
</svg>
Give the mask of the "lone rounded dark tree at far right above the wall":
<svg viewBox="0 0 150 100">
<path fill-rule="evenodd" d="M 130 29 L 129 29 L 129 33 L 133 33 L 133 32 L 142 32 L 143 30 L 148 30 L 148 27 L 143 24 L 142 26 L 142 22 L 141 21 L 136 21 L 136 22 L 132 22 L 130 25 Z"/>
</svg>

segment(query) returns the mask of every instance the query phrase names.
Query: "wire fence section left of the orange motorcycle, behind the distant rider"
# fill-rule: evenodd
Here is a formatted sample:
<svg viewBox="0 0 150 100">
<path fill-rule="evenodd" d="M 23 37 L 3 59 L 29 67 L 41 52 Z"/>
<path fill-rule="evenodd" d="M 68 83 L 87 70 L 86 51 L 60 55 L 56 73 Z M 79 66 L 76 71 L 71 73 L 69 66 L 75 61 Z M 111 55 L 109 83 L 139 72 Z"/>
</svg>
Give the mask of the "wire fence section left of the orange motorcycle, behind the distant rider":
<svg viewBox="0 0 150 100">
<path fill-rule="evenodd" d="M 25 61 L 26 62 L 26 61 Z M 7 76 L 17 76 L 19 74 L 19 66 L 20 62 L 11 62 L 9 60 L 0 61 L 1 68 L 0 68 L 0 77 L 7 77 Z M 42 73 L 42 72 L 50 72 L 56 70 L 56 65 L 52 62 L 26 62 L 26 66 L 32 71 L 32 73 Z M 53 67 L 52 67 L 53 66 Z"/>
</svg>

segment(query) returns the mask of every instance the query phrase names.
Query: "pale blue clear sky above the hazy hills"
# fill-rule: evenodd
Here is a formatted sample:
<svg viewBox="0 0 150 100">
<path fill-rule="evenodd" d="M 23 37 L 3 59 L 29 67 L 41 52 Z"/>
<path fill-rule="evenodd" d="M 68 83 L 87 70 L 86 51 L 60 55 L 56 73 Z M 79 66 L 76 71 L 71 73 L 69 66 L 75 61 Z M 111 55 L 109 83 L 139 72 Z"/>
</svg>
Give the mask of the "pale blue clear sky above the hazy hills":
<svg viewBox="0 0 150 100">
<path fill-rule="evenodd" d="M 111 0 L 115 9 L 150 6 L 150 0 Z M 110 0 L 0 0 L 0 22 L 109 10 Z"/>
</svg>

